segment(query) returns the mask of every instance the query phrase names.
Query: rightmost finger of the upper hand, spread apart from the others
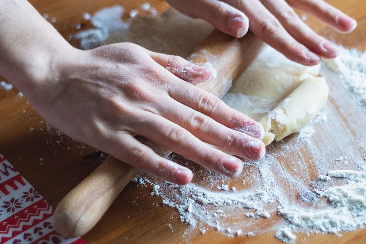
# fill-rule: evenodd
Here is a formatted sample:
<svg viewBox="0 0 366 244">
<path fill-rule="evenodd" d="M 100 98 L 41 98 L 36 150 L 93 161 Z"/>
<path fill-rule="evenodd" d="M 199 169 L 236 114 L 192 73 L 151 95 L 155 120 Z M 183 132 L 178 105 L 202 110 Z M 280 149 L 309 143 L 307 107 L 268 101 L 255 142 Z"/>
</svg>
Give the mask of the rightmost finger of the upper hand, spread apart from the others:
<svg viewBox="0 0 366 244">
<path fill-rule="evenodd" d="M 286 0 L 291 7 L 302 10 L 320 19 L 340 33 L 350 33 L 357 26 L 355 19 L 322 0 Z"/>
</svg>

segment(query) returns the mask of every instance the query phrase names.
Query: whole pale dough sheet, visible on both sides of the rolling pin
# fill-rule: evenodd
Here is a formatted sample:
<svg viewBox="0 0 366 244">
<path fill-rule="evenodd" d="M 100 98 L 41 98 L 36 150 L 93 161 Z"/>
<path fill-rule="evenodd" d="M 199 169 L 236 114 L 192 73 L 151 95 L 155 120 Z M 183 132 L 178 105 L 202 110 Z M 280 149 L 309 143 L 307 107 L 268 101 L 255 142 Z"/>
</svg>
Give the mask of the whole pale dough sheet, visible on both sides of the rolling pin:
<svg viewBox="0 0 366 244">
<path fill-rule="evenodd" d="M 134 42 L 154 52 L 187 57 L 213 27 L 170 9 L 162 16 L 132 18 L 130 28 L 119 30 L 105 41 Z M 249 69 L 223 97 L 230 107 L 261 123 L 266 145 L 298 132 L 317 114 L 328 96 L 320 66 L 291 62 L 266 46 Z"/>
</svg>

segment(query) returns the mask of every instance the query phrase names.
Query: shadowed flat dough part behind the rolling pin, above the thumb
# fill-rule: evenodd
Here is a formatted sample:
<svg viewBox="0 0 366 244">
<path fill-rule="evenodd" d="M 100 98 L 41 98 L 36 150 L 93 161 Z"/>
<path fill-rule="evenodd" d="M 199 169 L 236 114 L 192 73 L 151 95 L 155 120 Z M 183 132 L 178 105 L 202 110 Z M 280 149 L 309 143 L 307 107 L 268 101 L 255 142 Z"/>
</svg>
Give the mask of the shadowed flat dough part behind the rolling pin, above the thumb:
<svg viewBox="0 0 366 244">
<path fill-rule="evenodd" d="M 130 19 L 130 28 L 111 33 L 104 45 L 133 42 L 154 52 L 186 58 L 213 31 L 201 20 L 180 14 L 173 8 L 161 16 L 142 16 Z"/>
</svg>

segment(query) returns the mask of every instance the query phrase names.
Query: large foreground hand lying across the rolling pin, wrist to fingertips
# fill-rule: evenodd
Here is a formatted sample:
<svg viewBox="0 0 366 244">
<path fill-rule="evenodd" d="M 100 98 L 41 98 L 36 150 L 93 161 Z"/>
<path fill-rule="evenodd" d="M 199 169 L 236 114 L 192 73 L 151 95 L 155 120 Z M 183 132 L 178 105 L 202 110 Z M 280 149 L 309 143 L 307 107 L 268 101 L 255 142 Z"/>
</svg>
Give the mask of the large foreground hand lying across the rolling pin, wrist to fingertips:
<svg viewBox="0 0 366 244">
<path fill-rule="evenodd" d="M 207 67 L 132 43 L 90 51 L 69 47 L 55 57 L 53 72 L 27 97 L 76 140 L 181 185 L 192 172 L 134 136 L 230 177 L 242 171 L 241 160 L 205 143 L 250 160 L 264 155 L 261 125 L 193 85 L 210 78 Z"/>
</svg>

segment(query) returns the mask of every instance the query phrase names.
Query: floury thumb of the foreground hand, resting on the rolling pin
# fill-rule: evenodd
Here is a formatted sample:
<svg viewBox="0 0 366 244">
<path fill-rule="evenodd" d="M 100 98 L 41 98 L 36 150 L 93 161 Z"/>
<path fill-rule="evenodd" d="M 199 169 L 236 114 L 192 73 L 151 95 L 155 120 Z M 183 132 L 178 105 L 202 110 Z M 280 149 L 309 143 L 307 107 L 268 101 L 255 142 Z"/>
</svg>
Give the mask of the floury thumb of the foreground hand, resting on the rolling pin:
<svg viewBox="0 0 366 244">
<path fill-rule="evenodd" d="M 194 85 L 209 80 L 213 75 L 213 70 L 209 67 L 195 65 L 182 57 L 152 52 L 147 49 L 145 51 L 170 73 Z"/>
</svg>

